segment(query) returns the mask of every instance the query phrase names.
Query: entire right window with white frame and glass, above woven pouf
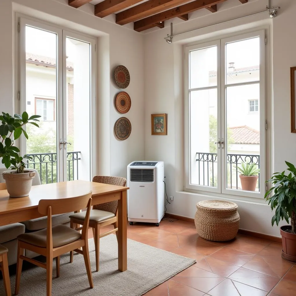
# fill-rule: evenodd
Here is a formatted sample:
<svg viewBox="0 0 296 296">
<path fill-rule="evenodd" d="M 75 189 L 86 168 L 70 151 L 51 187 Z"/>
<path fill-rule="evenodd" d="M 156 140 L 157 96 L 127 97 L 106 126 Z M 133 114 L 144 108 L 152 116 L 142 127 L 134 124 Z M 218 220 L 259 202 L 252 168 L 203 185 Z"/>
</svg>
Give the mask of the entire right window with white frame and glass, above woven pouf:
<svg viewBox="0 0 296 296">
<path fill-rule="evenodd" d="M 185 48 L 187 189 L 263 198 L 264 36 L 259 31 Z M 253 167 L 252 187 L 240 176 L 244 166 Z"/>
</svg>

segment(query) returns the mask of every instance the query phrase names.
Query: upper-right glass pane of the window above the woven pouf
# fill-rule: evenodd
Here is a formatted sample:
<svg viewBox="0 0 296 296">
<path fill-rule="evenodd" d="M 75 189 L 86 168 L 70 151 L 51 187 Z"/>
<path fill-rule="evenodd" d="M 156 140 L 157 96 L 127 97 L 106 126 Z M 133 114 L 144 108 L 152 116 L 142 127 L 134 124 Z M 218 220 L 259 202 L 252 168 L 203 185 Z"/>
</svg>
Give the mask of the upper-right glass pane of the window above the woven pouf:
<svg viewBox="0 0 296 296">
<path fill-rule="evenodd" d="M 259 81 L 260 38 L 226 44 L 226 84 Z"/>
</svg>

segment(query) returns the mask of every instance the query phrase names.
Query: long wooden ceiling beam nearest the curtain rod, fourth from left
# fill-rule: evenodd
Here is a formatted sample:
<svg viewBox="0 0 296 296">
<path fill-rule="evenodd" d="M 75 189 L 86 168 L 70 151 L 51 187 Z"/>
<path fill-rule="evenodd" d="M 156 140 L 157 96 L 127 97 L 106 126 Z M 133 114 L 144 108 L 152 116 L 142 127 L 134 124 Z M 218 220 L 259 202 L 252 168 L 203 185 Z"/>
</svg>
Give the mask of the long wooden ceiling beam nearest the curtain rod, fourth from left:
<svg viewBox="0 0 296 296">
<path fill-rule="evenodd" d="M 146 17 L 142 20 L 138 20 L 134 22 L 133 29 L 137 32 L 141 32 L 144 30 L 147 30 L 147 28 L 151 24 L 156 24 L 158 22 L 163 22 L 165 20 L 169 20 L 173 17 L 179 17 L 181 15 L 185 15 L 186 13 L 206 8 L 215 4 L 218 4 L 220 2 L 223 2 L 226 0 L 196 0 L 193 2 L 190 2 L 188 4 L 175 7 L 173 9 L 166 10 L 164 12 L 160 12 L 156 15 L 152 15 L 150 17 Z"/>
</svg>

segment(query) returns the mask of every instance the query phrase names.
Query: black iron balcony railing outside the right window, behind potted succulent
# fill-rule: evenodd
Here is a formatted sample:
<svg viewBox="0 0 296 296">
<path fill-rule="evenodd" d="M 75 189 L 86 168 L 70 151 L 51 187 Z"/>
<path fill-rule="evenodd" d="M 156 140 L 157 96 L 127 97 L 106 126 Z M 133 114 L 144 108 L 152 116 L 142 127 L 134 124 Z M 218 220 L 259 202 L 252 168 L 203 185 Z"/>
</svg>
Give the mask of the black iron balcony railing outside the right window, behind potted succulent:
<svg viewBox="0 0 296 296">
<path fill-rule="evenodd" d="M 192 180 L 193 184 L 217 187 L 217 153 L 197 152 L 196 162 L 197 180 Z M 260 155 L 227 154 L 227 188 L 241 189 L 237 166 L 242 162 L 255 163 L 260 169 Z M 257 190 L 260 191 L 260 178 L 258 178 Z"/>
</svg>

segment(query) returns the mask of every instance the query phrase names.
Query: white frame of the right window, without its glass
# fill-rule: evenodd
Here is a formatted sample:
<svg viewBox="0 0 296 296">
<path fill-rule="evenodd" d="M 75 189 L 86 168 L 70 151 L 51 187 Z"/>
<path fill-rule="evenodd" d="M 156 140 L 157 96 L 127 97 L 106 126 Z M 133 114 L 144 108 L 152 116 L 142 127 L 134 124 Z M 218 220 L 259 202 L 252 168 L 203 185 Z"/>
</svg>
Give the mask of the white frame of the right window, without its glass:
<svg viewBox="0 0 296 296">
<path fill-rule="evenodd" d="M 225 47 L 227 43 L 260 37 L 260 79 L 259 81 L 250 81 L 244 83 L 234 83 L 234 84 L 226 84 L 226 56 L 225 56 Z M 211 186 L 202 186 L 195 185 L 190 183 L 190 162 L 191 162 L 191 153 L 190 153 L 190 97 L 189 93 L 192 89 L 189 89 L 189 73 L 190 73 L 190 64 L 189 64 L 189 53 L 192 50 L 198 50 L 206 47 L 213 46 L 213 44 L 217 44 L 217 137 L 220 139 L 226 139 L 226 102 L 225 102 L 225 92 L 228 86 L 240 86 L 246 84 L 255 84 L 260 83 L 260 108 L 258 107 L 258 112 L 260 113 L 260 192 L 248 192 L 243 190 L 236 189 L 228 189 L 227 188 L 227 174 L 226 174 L 226 166 L 227 166 L 227 156 L 226 149 L 218 149 L 217 151 L 217 163 L 218 163 L 218 187 Z M 220 50 L 219 50 L 220 48 Z M 203 44 L 197 44 L 193 46 L 184 46 L 184 54 L 185 54 L 185 65 L 184 65 L 184 110 L 185 110 L 185 190 L 194 191 L 194 192 L 213 192 L 216 194 L 222 194 L 222 196 L 227 195 L 236 195 L 243 197 L 251 197 L 251 198 L 264 198 L 265 194 L 265 180 L 266 180 L 266 44 L 265 44 L 265 30 L 254 31 L 245 34 L 238 34 L 228 38 L 222 38 L 216 41 L 207 42 Z M 224 69 L 222 71 L 221 69 Z M 200 88 L 201 89 L 201 88 Z M 219 100 L 219 97 L 221 98 Z M 258 99 L 259 100 L 259 99 Z M 258 104 L 258 105 L 259 105 Z M 252 112 L 253 113 L 253 112 Z M 221 123 L 221 124 L 219 124 Z M 223 151 L 222 151 L 223 150 Z M 223 153 L 223 155 L 222 155 Z M 221 164 L 219 168 L 219 163 Z M 221 171 L 220 171 L 221 170 Z"/>
</svg>

